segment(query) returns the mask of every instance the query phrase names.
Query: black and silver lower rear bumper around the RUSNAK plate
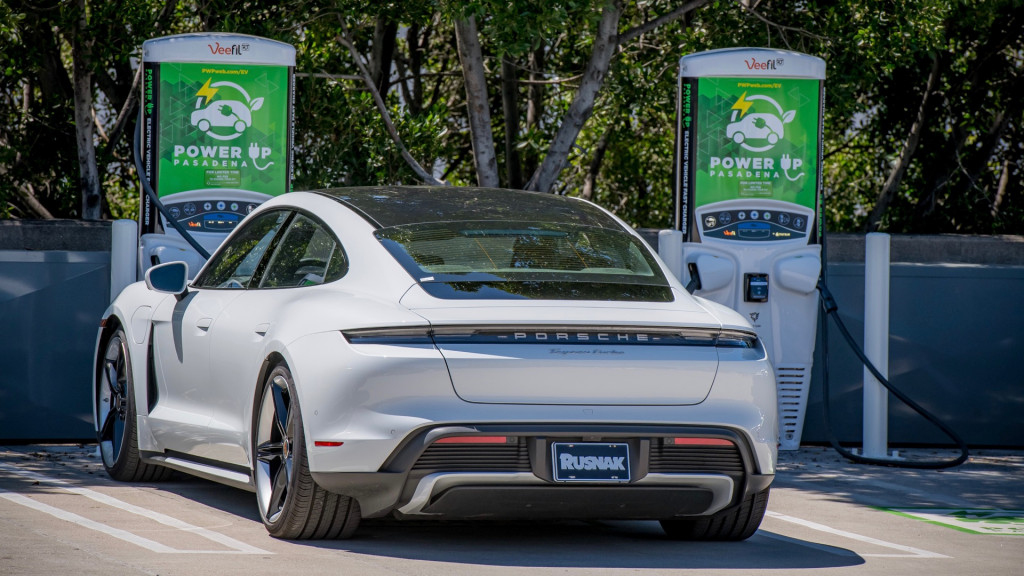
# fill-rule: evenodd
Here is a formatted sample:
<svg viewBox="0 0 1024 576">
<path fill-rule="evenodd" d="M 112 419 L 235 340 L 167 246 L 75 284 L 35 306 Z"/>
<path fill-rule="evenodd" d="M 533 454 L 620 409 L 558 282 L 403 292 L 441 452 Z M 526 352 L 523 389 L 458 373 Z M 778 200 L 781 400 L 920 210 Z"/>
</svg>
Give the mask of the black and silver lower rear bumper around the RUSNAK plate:
<svg viewBox="0 0 1024 576">
<path fill-rule="evenodd" d="M 440 438 L 466 434 L 508 436 L 515 445 L 510 441 L 500 452 L 432 446 Z M 664 439 L 674 437 L 728 440 L 735 448 L 664 448 Z M 556 441 L 629 444 L 630 482 L 555 482 L 550 447 Z M 402 443 L 376 472 L 312 476 L 323 488 L 356 498 L 367 518 L 444 519 L 706 516 L 738 504 L 774 479 L 759 474 L 745 437 L 728 428 L 568 424 L 431 427 Z"/>
</svg>

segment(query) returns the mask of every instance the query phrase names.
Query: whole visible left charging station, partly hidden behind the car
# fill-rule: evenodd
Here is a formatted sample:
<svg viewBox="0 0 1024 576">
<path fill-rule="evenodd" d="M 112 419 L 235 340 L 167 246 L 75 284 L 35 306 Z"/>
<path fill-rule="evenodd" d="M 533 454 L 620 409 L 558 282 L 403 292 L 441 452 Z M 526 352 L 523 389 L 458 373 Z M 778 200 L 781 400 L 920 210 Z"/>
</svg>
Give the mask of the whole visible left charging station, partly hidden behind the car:
<svg viewBox="0 0 1024 576">
<path fill-rule="evenodd" d="M 291 190 L 295 47 L 179 34 L 144 41 L 140 66 L 137 272 L 171 260 L 198 272 L 247 214 Z"/>
</svg>

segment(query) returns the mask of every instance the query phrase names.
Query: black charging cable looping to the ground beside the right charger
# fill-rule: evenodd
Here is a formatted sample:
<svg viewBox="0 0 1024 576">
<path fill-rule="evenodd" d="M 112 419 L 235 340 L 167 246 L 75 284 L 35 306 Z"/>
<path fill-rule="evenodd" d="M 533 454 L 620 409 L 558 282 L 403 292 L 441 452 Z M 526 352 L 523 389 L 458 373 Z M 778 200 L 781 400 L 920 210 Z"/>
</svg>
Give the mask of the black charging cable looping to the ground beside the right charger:
<svg viewBox="0 0 1024 576">
<path fill-rule="evenodd" d="M 826 282 L 825 272 L 827 270 L 827 258 L 825 256 L 825 234 L 824 227 L 821 230 L 821 279 L 818 281 L 817 290 L 821 297 L 819 301 L 821 302 L 821 311 L 824 313 L 824 319 L 821 326 L 821 369 L 822 369 L 822 382 L 821 382 L 821 402 L 823 405 L 822 416 L 825 422 L 825 431 L 828 435 L 828 443 L 831 447 L 839 452 L 844 458 L 852 462 L 859 464 L 873 464 L 879 466 L 894 466 L 900 468 L 915 468 L 915 469 L 941 469 L 941 468 L 951 468 L 953 466 L 958 466 L 967 461 L 970 457 L 968 453 L 967 443 L 964 439 L 959 437 L 951 427 L 949 427 L 945 422 L 940 420 L 934 414 L 926 410 L 923 406 L 914 402 L 907 395 L 903 394 L 899 388 L 894 386 L 888 378 L 882 375 L 878 368 L 871 363 L 871 361 L 864 354 L 864 351 L 857 345 L 856 340 L 847 330 L 846 325 L 843 323 L 843 319 L 839 317 L 839 305 L 836 303 L 836 298 L 833 297 L 831 292 L 828 290 L 828 285 Z M 935 424 L 943 434 L 948 436 L 955 444 L 957 449 L 961 451 L 961 455 L 952 460 L 890 460 L 883 458 L 869 458 L 860 454 L 855 454 L 850 450 L 847 450 L 840 444 L 839 439 L 836 437 L 836 433 L 831 426 L 831 406 L 829 403 L 829 387 L 828 387 L 828 318 L 831 318 L 836 322 L 836 327 L 839 328 L 840 333 L 846 339 L 850 348 L 853 351 L 860 362 L 867 367 L 868 371 L 878 378 L 879 382 L 892 393 L 897 399 L 903 404 L 907 405 L 911 410 L 921 414 L 926 420 Z"/>
</svg>

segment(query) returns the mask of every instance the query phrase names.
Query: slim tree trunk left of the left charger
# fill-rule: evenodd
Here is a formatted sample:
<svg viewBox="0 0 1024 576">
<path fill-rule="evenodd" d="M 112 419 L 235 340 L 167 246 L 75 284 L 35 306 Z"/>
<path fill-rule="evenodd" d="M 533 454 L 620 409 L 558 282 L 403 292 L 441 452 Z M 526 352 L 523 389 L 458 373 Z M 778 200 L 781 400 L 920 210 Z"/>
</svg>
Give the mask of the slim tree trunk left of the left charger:
<svg viewBox="0 0 1024 576">
<path fill-rule="evenodd" d="M 78 145 L 79 187 L 82 193 L 81 217 L 85 220 L 98 220 L 101 203 L 96 147 L 92 141 L 92 58 L 85 0 L 77 0 L 77 9 L 78 20 L 72 39 L 72 67 L 75 88 L 75 141 Z"/>
</svg>

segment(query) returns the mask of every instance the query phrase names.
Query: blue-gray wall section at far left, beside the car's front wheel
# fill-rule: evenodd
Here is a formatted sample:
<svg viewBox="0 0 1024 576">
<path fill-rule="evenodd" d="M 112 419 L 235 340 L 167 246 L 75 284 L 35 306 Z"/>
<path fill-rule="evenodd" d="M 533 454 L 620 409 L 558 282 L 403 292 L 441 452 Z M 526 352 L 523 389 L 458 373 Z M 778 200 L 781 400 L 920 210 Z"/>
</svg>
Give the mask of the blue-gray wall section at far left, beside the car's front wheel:
<svg viewBox="0 0 1024 576">
<path fill-rule="evenodd" d="M 92 440 L 111 222 L 0 220 L 0 440 Z"/>
</svg>

